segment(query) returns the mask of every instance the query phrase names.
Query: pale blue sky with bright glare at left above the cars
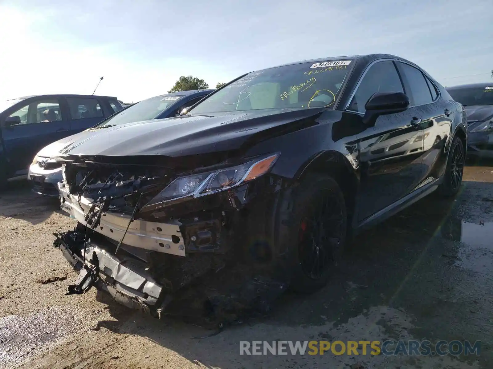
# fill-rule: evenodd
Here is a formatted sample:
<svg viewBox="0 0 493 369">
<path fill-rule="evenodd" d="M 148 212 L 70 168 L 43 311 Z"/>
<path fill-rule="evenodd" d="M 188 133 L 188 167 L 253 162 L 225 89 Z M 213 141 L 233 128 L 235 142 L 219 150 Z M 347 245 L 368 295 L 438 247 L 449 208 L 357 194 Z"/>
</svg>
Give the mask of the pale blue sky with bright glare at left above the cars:
<svg viewBox="0 0 493 369">
<path fill-rule="evenodd" d="M 211 88 L 252 70 L 387 53 L 444 86 L 491 81 L 493 2 L 0 0 L 0 101 L 45 93 L 166 93 L 182 75 Z"/>
</svg>

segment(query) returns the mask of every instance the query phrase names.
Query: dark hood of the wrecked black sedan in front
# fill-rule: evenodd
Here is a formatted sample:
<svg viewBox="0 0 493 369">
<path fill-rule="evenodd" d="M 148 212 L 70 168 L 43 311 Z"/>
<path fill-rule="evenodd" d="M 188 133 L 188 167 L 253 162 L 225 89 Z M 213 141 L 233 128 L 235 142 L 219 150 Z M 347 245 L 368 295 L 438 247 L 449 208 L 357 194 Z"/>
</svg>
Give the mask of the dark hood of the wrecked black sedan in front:
<svg viewBox="0 0 493 369">
<path fill-rule="evenodd" d="M 311 117 L 318 116 L 321 110 L 255 110 L 155 119 L 107 128 L 72 142 L 60 153 L 72 157 L 224 153 L 278 136 L 286 129 L 313 125 Z"/>
</svg>

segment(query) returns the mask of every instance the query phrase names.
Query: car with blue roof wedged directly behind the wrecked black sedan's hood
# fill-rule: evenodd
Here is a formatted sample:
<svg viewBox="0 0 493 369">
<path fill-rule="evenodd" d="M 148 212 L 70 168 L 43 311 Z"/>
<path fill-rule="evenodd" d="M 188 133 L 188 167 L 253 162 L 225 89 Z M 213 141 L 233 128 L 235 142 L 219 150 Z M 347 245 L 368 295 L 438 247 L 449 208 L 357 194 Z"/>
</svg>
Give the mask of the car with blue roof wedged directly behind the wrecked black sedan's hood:
<svg viewBox="0 0 493 369">
<path fill-rule="evenodd" d="M 212 91 L 214 90 L 192 90 L 150 97 L 128 106 L 90 129 L 53 142 L 39 151 L 34 160 L 35 153 L 29 160 L 31 166 L 28 180 L 32 183 L 33 190 L 40 195 L 58 197 L 57 183 L 62 182 L 62 165 L 50 157 L 56 156 L 60 150 L 66 149 L 76 141 L 88 140 L 101 129 L 121 124 L 175 117 L 183 109 L 199 102 Z"/>
</svg>

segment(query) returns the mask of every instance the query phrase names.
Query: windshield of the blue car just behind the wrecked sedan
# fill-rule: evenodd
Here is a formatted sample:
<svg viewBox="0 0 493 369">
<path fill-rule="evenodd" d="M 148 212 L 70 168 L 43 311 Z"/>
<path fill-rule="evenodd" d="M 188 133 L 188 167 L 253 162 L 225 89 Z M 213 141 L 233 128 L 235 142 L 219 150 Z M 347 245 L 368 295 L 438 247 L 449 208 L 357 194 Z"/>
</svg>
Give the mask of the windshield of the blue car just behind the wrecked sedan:
<svg viewBox="0 0 493 369">
<path fill-rule="evenodd" d="M 162 95 L 142 100 L 129 106 L 127 109 L 121 110 L 118 114 L 106 119 L 106 121 L 101 122 L 101 124 L 98 124 L 97 127 L 107 127 L 154 119 L 182 97 L 183 96 Z"/>
</svg>

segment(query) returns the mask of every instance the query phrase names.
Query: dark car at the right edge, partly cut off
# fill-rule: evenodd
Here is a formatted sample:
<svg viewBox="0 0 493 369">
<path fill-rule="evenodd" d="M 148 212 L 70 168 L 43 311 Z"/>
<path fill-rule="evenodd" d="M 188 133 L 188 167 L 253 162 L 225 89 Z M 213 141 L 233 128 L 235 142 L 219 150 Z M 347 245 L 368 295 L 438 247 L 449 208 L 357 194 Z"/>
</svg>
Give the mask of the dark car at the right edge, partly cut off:
<svg viewBox="0 0 493 369">
<path fill-rule="evenodd" d="M 469 130 L 469 154 L 493 150 L 493 83 L 448 87 L 451 96 L 465 107 Z"/>
</svg>

